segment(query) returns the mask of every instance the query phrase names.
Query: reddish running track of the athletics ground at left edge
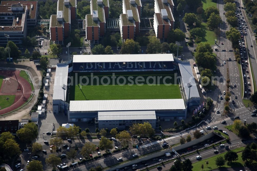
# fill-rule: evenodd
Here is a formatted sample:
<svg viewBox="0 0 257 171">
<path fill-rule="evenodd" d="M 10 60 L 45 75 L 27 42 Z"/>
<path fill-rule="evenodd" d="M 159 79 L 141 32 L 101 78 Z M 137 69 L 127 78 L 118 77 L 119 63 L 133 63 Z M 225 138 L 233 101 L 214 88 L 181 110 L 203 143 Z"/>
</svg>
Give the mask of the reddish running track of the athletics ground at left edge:
<svg viewBox="0 0 257 171">
<path fill-rule="evenodd" d="M 14 109 L 23 105 L 27 101 L 27 99 L 29 99 L 29 97 L 30 97 L 31 87 L 30 87 L 29 82 L 27 82 L 27 80 L 20 77 L 19 70 L 1 70 L 0 75 L 15 79 L 18 82 L 19 86 L 21 87 L 21 91 L 17 91 L 16 93 L 1 93 L 2 92 L 1 90 L 3 87 L 2 85 L 4 84 L 4 81 L 3 81 L 2 85 L 0 85 L 1 86 L 0 96 L 1 95 L 15 95 L 15 100 L 14 100 L 13 104 L 10 107 L 0 110 L 0 115 L 3 115 L 4 113 L 11 112 Z"/>
</svg>

